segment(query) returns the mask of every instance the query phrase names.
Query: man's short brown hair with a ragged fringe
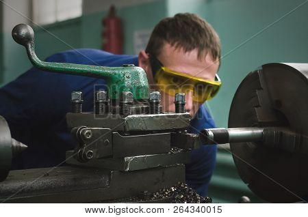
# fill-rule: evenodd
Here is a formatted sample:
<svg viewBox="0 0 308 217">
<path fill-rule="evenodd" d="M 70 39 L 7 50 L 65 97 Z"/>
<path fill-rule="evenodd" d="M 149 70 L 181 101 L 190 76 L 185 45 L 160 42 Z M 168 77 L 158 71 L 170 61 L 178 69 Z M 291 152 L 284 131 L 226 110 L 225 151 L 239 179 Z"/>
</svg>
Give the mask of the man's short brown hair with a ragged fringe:
<svg viewBox="0 0 308 217">
<path fill-rule="evenodd" d="M 157 57 L 166 42 L 185 52 L 198 49 L 198 59 L 210 53 L 214 61 L 220 61 L 218 34 L 196 14 L 175 14 L 161 20 L 153 29 L 146 53 Z"/>
</svg>

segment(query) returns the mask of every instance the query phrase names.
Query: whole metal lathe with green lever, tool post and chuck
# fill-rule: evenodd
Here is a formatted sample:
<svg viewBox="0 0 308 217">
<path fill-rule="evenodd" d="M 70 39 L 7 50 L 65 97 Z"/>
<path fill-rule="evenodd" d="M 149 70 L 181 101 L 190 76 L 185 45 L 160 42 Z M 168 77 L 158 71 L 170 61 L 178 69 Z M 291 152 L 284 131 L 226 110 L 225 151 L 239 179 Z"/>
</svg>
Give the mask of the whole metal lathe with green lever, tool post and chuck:
<svg viewBox="0 0 308 217">
<path fill-rule="evenodd" d="M 179 183 L 185 183 L 192 149 L 223 143 L 230 143 L 240 177 L 259 197 L 307 199 L 307 63 L 269 63 L 251 72 L 233 98 L 229 128 L 190 134 L 185 95 L 175 95 L 175 112 L 162 112 L 160 93 L 149 93 L 142 68 L 44 62 L 36 56 L 31 27 L 17 25 L 12 36 L 34 66 L 103 78 L 109 89 L 95 91 L 92 113 L 82 111 L 81 92 L 68 99 L 66 121 L 76 147 L 66 153 L 67 167 L 10 171 L 12 157 L 27 146 L 12 139 L 0 119 L 0 201 L 208 203 Z"/>
</svg>

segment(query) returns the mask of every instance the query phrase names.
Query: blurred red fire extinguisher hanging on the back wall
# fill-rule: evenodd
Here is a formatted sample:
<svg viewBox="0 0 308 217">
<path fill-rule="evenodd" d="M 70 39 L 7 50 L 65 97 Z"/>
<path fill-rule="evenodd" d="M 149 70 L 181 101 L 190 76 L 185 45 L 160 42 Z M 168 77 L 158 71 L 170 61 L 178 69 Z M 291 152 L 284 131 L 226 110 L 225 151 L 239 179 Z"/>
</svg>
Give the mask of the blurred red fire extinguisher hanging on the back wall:
<svg viewBox="0 0 308 217">
<path fill-rule="evenodd" d="M 103 18 L 103 50 L 114 54 L 123 54 L 121 20 L 116 16 L 114 5 L 110 7 L 108 16 Z"/>
</svg>

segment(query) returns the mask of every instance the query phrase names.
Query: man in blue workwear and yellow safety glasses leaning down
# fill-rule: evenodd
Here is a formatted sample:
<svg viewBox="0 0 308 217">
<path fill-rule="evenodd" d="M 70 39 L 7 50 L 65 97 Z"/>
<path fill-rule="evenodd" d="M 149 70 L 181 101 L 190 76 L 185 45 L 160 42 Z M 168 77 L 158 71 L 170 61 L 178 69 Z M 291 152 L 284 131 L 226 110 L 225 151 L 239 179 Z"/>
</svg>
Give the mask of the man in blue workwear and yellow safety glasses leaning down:
<svg viewBox="0 0 308 217">
<path fill-rule="evenodd" d="M 189 87 L 194 81 L 202 81 L 203 86 L 216 82 L 220 42 L 214 29 L 194 14 L 177 14 L 159 22 L 146 51 L 142 50 L 138 57 L 78 49 L 57 53 L 47 58 L 47 61 L 99 66 L 133 63 L 145 70 L 150 85 L 157 81 L 158 88 L 162 90 L 165 111 L 175 110 L 174 95 L 168 95 L 165 89 L 168 85 L 161 81 L 166 81 L 166 76 L 182 78 L 183 83 L 190 84 L 185 88 L 186 109 L 194 116 L 189 130 L 197 133 L 203 128 L 215 127 L 203 106 L 204 100 L 214 95 L 214 92 L 209 91 L 208 96 L 203 96 L 202 91 L 197 96 L 197 91 Z M 172 73 L 177 73 L 177 76 Z M 28 145 L 28 149 L 14 159 L 13 169 L 55 167 L 64 162 L 65 151 L 75 147 L 65 120 L 65 114 L 70 111 L 70 93 L 82 91 L 84 111 L 93 111 L 94 85 L 99 84 L 103 85 L 104 81 L 31 68 L 1 88 L 0 115 L 8 121 L 12 137 Z M 185 85 L 176 85 L 182 86 Z M 192 151 L 192 161 L 186 165 L 188 185 L 203 196 L 207 195 L 207 184 L 215 161 L 216 146 L 203 146 Z"/>
</svg>

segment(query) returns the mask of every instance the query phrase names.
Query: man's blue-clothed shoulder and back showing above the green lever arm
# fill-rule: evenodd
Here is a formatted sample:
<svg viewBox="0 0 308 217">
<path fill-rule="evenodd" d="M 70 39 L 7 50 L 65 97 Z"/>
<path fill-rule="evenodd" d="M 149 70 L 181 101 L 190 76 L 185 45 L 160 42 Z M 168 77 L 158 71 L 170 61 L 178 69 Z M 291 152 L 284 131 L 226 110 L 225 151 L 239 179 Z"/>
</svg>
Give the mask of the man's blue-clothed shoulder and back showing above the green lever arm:
<svg viewBox="0 0 308 217">
<path fill-rule="evenodd" d="M 114 55 L 103 50 L 92 48 L 65 50 L 47 57 L 46 61 L 78 63 L 93 66 L 122 66 L 127 63 L 138 64 L 136 55 Z"/>
</svg>

